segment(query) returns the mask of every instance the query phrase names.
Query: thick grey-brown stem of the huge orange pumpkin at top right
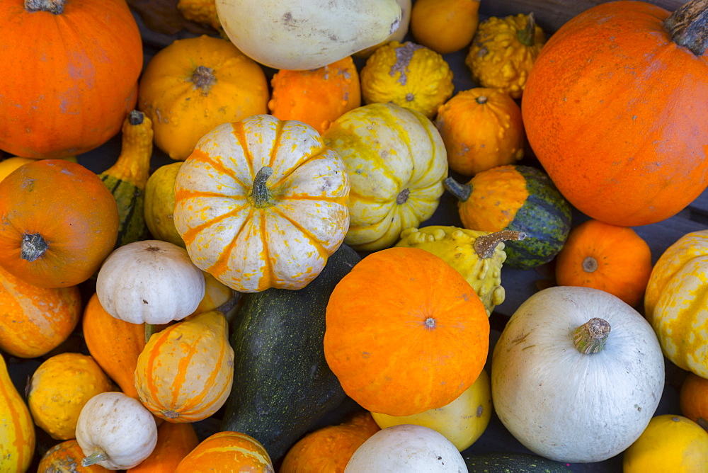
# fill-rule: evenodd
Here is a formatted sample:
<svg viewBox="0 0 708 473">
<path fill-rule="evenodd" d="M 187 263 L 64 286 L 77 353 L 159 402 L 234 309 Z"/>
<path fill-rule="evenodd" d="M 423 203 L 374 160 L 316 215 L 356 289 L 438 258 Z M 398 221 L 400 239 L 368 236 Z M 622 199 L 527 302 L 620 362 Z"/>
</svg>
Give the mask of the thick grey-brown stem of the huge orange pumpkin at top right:
<svg viewBox="0 0 708 473">
<path fill-rule="evenodd" d="M 671 39 L 702 56 L 708 48 L 708 0 L 692 0 L 677 8 L 663 22 Z"/>
</svg>

